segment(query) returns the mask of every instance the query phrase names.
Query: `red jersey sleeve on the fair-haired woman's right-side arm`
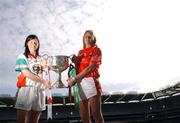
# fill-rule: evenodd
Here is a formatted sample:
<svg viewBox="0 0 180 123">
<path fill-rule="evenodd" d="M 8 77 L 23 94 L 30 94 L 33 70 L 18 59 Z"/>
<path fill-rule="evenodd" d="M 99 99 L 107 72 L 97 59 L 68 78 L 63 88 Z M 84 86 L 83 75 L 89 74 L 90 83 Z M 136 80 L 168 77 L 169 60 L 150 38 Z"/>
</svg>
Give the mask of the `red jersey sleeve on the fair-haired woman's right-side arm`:
<svg viewBox="0 0 180 123">
<path fill-rule="evenodd" d="M 101 60 L 102 60 L 101 50 L 99 48 L 96 48 L 92 54 L 90 64 L 93 63 L 96 66 L 99 66 L 101 64 Z"/>
</svg>

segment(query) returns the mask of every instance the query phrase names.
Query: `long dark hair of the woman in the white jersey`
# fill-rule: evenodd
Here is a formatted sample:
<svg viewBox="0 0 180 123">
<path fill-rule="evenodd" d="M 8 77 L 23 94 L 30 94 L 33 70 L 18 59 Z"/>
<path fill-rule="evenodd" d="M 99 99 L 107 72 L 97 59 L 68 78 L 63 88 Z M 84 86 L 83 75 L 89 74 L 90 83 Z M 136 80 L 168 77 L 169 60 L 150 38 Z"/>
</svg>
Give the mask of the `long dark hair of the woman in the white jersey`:
<svg viewBox="0 0 180 123">
<path fill-rule="evenodd" d="M 28 54 L 30 53 L 27 43 L 28 43 L 30 40 L 33 40 L 33 39 L 38 40 L 38 44 L 39 44 L 39 45 L 38 45 L 38 48 L 37 48 L 37 50 L 36 50 L 36 55 L 39 56 L 39 47 L 40 47 L 39 38 L 38 38 L 36 35 L 31 34 L 31 35 L 29 35 L 29 36 L 26 38 L 25 43 L 24 43 L 24 47 L 25 47 L 24 55 L 25 55 L 27 58 L 28 58 Z"/>
</svg>

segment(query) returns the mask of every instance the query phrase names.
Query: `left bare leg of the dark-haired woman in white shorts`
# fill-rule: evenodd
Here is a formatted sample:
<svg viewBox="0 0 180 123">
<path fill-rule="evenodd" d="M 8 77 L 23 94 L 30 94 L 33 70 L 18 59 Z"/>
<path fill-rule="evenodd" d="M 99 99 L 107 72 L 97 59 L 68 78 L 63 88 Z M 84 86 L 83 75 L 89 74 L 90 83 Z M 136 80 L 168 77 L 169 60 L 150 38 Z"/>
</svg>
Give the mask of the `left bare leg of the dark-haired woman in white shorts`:
<svg viewBox="0 0 180 123">
<path fill-rule="evenodd" d="M 17 109 L 17 123 L 28 123 L 30 111 Z"/>
</svg>

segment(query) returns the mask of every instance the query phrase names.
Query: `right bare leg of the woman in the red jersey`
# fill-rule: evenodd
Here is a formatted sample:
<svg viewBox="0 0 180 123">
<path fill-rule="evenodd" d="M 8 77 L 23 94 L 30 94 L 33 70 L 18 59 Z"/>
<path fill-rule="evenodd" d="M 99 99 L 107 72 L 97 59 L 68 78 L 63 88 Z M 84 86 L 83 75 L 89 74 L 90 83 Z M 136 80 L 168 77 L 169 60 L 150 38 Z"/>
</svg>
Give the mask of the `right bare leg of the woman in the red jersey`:
<svg viewBox="0 0 180 123">
<path fill-rule="evenodd" d="M 89 99 L 91 113 L 96 123 L 104 123 L 102 111 L 101 111 L 101 95 L 97 94 Z"/>
</svg>

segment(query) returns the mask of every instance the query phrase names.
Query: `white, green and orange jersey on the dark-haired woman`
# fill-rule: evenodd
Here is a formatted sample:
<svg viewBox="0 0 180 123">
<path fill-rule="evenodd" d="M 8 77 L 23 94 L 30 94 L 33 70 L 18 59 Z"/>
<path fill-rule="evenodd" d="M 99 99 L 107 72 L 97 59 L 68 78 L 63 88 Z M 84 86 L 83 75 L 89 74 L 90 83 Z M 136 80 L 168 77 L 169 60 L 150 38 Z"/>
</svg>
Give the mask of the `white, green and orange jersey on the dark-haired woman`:
<svg viewBox="0 0 180 123">
<path fill-rule="evenodd" d="M 28 55 L 28 58 L 26 58 L 24 54 L 20 54 L 16 60 L 15 70 L 20 72 L 19 76 L 22 75 L 22 70 L 30 70 L 32 73 L 38 75 L 39 77 L 42 77 L 43 66 L 41 65 L 41 57 L 37 56 L 36 58 L 34 58 L 31 55 Z M 18 82 L 22 81 L 18 80 Z M 20 85 L 44 88 L 43 84 L 35 82 L 27 77 L 24 79 L 23 84 Z"/>
</svg>

